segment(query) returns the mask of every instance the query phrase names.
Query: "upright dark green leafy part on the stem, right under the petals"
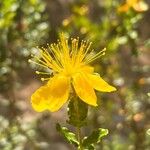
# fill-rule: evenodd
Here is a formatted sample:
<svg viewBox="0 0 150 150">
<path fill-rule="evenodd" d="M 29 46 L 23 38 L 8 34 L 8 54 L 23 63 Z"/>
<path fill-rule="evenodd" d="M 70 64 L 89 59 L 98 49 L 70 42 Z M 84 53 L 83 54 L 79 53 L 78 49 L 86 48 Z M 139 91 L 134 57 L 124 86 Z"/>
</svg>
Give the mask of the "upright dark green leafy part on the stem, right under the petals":
<svg viewBox="0 0 150 150">
<path fill-rule="evenodd" d="M 67 122 L 76 127 L 82 127 L 86 124 L 86 118 L 88 113 L 88 106 L 80 99 L 72 99 L 68 104 L 68 116 Z"/>
</svg>

